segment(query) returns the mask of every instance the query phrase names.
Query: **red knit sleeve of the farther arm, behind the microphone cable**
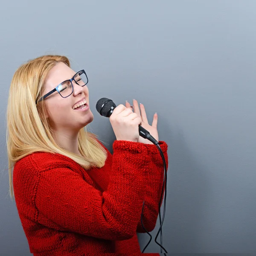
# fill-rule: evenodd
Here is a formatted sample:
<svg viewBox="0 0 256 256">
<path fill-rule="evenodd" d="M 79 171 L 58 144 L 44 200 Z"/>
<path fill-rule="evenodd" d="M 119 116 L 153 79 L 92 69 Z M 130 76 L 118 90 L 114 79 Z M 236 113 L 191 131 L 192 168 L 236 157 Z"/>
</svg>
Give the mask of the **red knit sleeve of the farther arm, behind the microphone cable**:
<svg viewBox="0 0 256 256">
<path fill-rule="evenodd" d="M 159 141 L 159 145 L 163 151 L 166 160 L 166 168 L 168 169 L 168 145 L 164 141 Z M 163 160 L 157 147 L 151 144 L 146 144 L 146 146 L 150 162 L 148 164 L 149 179 L 145 186 L 146 195 L 143 209 L 143 225 L 148 232 L 151 232 L 154 230 L 159 214 L 158 205 L 163 187 L 164 168 Z M 163 197 L 161 198 L 161 205 L 162 202 Z M 145 230 L 143 229 L 140 221 L 138 222 L 137 232 L 145 233 Z"/>
</svg>

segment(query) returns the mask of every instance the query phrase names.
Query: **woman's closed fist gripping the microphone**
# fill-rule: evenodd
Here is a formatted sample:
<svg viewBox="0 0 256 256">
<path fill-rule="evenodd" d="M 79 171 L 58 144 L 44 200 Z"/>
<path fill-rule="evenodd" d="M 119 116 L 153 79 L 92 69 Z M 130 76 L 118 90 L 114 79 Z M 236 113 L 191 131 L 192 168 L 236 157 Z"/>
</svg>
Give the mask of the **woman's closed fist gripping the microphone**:
<svg viewBox="0 0 256 256">
<path fill-rule="evenodd" d="M 116 135 L 116 140 L 138 142 L 140 137 L 139 125 L 142 119 L 130 107 L 126 108 L 122 104 L 118 105 L 109 119 Z"/>
</svg>

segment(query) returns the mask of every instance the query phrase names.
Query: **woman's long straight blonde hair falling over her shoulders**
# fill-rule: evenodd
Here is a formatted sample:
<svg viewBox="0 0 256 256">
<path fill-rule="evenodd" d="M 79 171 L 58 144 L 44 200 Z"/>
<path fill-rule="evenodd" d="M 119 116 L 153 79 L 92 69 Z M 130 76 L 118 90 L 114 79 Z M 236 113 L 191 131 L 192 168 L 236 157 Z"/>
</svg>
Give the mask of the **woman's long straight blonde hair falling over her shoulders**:
<svg viewBox="0 0 256 256">
<path fill-rule="evenodd" d="M 12 171 L 15 163 L 35 151 L 59 153 L 70 157 L 84 169 L 102 167 L 107 152 L 97 140 L 97 136 L 85 128 L 79 131 L 79 151 L 82 156 L 67 151 L 57 145 L 52 129 L 46 118 L 44 100 L 35 104 L 44 90 L 44 81 L 58 62 L 70 67 L 65 56 L 44 55 L 21 65 L 15 72 L 7 106 L 7 154 L 9 162 L 9 192 L 14 198 Z"/>
</svg>

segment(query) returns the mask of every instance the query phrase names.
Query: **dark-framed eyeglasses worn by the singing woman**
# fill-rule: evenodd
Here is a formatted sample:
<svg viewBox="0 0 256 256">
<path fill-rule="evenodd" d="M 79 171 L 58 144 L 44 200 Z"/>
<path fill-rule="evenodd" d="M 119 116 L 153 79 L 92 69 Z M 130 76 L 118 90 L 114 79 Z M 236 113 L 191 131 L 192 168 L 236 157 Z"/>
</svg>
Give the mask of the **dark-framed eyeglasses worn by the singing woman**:
<svg viewBox="0 0 256 256">
<path fill-rule="evenodd" d="M 88 78 L 87 75 L 85 73 L 84 70 L 80 70 L 78 71 L 75 76 L 73 76 L 72 79 L 63 81 L 61 84 L 58 84 L 53 90 L 51 90 L 49 93 L 45 94 L 44 96 L 42 96 L 40 99 L 37 99 L 35 101 L 35 104 L 37 104 L 38 102 L 41 102 L 41 100 L 45 99 L 46 97 L 48 97 L 49 95 L 51 95 L 52 93 L 54 93 L 55 91 L 57 91 L 62 98 L 67 98 L 68 96 L 70 96 L 73 91 L 73 83 L 72 81 L 75 81 L 76 84 L 80 85 L 80 86 L 84 86 L 88 83 Z"/>
</svg>

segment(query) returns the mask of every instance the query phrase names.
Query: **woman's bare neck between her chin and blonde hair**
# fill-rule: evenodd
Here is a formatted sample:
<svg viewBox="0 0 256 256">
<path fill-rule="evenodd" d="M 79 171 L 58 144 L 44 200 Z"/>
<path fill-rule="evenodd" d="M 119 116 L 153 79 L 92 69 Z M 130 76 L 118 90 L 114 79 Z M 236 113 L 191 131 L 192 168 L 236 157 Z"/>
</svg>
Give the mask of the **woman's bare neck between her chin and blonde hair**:
<svg viewBox="0 0 256 256">
<path fill-rule="evenodd" d="M 61 148 L 73 152 L 74 154 L 81 155 L 78 149 L 78 133 L 79 131 L 55 131 L 54 139 Z"/>
</svg>

